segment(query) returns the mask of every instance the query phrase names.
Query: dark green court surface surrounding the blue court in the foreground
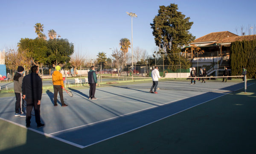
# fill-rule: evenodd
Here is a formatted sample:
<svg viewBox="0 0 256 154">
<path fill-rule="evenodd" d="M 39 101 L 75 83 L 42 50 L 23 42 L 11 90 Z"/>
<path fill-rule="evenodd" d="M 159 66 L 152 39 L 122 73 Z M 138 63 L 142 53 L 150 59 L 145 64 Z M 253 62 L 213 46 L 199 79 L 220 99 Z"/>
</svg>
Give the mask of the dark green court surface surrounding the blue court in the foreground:
<svg viewBox="0 0 256 154">
<path fill-rule="evenodd" d="M 246 94 L 224 94 L 85 148 L 0 120 L 0 153 L 255 154 L 256 80 L 248 83 Z"/>
</svg>

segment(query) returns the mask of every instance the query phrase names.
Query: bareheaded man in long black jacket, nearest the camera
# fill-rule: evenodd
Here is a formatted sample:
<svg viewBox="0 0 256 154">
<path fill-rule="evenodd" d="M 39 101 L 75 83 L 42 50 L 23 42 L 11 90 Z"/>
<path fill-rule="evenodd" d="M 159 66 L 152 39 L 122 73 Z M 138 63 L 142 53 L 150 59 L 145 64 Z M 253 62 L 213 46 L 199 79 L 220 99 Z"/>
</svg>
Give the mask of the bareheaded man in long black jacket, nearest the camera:
<svg viewBox="0 0 256 154">
<path fill-rule="evenodd" d="M 40 120 L 40 105 L 42 98 L 42 79 L 38 75 L 38 66 L 31 67 L 31 74 L 26 75 L 22 81 L 22 98 L 26 98 L 26 127 L 30 127 L 31 111 L 35 110 L 37 127 L 44 127 Z"/>
</svg>

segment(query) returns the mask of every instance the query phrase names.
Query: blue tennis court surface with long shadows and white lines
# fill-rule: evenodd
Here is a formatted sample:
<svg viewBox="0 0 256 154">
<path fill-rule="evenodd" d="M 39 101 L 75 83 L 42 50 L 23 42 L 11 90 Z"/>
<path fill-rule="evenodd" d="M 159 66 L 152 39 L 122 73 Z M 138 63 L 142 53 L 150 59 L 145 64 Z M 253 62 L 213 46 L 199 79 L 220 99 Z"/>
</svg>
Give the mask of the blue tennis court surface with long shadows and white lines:
<svg viewBox="0 0 256 154">
<path fill-rule="evenodd" d="M 69 88 L 74 96 L 69 97 L 64 91 L 67 107 L 61 107 L 59 97 L 58 106 L 54 107 L 53 90 L 48 90 L 41 100 L 41 121 L 45 127 L 36 128 L 32 116 L 29 130 L 85 148 L 244 88 L 244 83 L 235 82 L 190 85 L 187 81 L 160 81 L 158 94 L 151 94 L 151 84 L 97 87 L 98 100 L 88 99 L 88 88 Z M 15 96 L 0 98 L 0 118 L 26 128 L 25 117 L 14 114 Z"/>
</svg>

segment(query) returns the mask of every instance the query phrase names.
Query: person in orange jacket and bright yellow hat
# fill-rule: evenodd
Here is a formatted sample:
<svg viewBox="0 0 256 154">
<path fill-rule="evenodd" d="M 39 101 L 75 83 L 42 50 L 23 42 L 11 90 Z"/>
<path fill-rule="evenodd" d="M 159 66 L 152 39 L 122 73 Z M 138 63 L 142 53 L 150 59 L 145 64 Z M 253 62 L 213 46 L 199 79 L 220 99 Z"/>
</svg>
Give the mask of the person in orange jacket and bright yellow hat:
<svg viewBox="0 0 256 154">
<path fill-rule="evenodd" d="M 63 91 L 62 91 L 62 87 L 64 87 L 64 83 L 63 83 L 63 78 L 62 78 L 62 74 L 60 73 L 60 69 L 61 66 L 56 66 L 55 67 L 56 71 L 54 71 L 52 73 L 52 83 L 53 83 L 53 102 L 54 102 L 54 106 L 58 106 L 57 104 L 57 95 L 59 93 L 60 98 L 61 98 L 61 106 L 65 107 L 67 106 L 67 104 L 64 103 L 64 99 L 63 99 Z"/>
</svg>

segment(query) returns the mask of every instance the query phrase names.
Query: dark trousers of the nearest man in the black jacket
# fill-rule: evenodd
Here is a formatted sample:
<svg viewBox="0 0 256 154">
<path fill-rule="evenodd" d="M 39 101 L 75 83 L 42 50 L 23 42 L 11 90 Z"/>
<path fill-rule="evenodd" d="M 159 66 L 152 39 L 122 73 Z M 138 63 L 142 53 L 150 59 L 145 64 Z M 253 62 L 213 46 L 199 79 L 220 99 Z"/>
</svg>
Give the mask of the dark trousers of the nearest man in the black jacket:
<svg viewBox="0 0 256 154">
<path fill-rule="evenodd" d="M 34 108 L 35 111 L 35 122 L 37 124 L 41 123 L 40 120 L 40 105 L 37 105 L 38 100 L 32 100 L 32 99 L 26 99 L 27 108 L 26 108 L 26 124 L 30 125 L 30 119 L 31 119 L 31 111 Z"/>
</svg>

